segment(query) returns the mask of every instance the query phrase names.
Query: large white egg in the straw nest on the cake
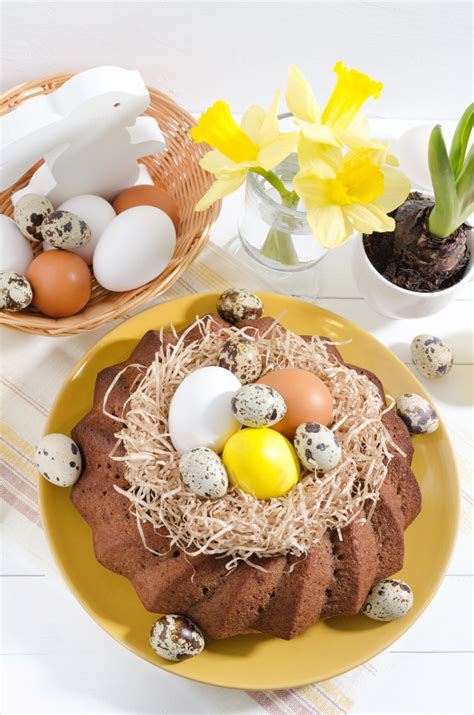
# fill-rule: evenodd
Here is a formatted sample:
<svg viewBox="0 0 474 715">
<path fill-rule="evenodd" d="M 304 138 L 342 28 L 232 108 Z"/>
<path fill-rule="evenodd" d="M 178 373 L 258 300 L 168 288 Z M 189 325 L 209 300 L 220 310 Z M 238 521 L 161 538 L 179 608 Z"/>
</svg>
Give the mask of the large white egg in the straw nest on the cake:
<svg viewBox="0 0 474 715">
<path fill-rule="evenodd" d="M 120 214 L 123 216 L 123 214 Z M 168 429 L 176 450 L 209 447 L 221 452 L 240 429 L 231 409 L 232 397 L 241 387 L 229 370 L 211 365 L 187 375 L 174 393 Z"/>
</svg>

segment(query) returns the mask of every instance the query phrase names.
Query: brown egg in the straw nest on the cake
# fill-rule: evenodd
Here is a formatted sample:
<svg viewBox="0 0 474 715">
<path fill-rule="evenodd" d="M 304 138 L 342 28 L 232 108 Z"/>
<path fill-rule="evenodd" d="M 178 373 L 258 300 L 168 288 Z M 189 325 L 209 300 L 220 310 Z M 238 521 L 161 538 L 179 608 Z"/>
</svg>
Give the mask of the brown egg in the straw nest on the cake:
<svg viewBox="0 0 474 715">
<path fill-rule="evenodd" d="M 273 370 L 257 380 L 280 393 L 286 403 L 286 415 L 272 429 L 293 439 L 303 422 L 331 422 L 333 399 L 322 380 L 307 370 L 296 367 Z"/>
</svg>

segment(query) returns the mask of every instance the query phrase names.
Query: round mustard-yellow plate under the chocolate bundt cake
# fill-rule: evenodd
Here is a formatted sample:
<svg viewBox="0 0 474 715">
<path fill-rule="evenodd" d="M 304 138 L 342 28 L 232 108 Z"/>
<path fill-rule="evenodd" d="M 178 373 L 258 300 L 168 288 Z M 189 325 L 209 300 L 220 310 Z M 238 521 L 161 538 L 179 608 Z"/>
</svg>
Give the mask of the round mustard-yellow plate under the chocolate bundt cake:
<svg viewBox="0 0 474 715">
<path fill-rule="evenodd" d="M 344 318 L 284 296 L 261 294 L 265 314 L 278 316 L 296 333 L 352 339 L 344 358 L 373 370 L 387 393 L 425 394 L 412 373 L 381 343 Z M 89 410 L 102 368 L 128 358 L 143 334 L 172 322 L 181 329 L 196 315 L 215 312 L 217 294 L 163 303 L 112 330 L 82 358 L 59 393 L 47 432 L 70 433 Z M 400 621 L 377 623 L 364 616 L 317 623 L 302 636 L 283 641 L 248 635 L 213 641 L 197 658 L 170 663 L 150 649 L 148 634 L 156 615 L 144 609 L 130 583 L 94 558 L 89 526 L 69 500 L 69 490 L 40 483 L 43 522 L 51 549 L 69 587 L 97 623 L 137 655 L 166 670 L 203 683 L 244 689 L 288 688 L 326 680 L 360 665 L 418 618 L 433 597 L 449 561 L 458 521 L 455 460 L 443 425 L 415 437 L 413 469 L 423 492 L 423 509 L 406 532 L 405 567 L 398 576 L 413 588 L 415 605 Z M 236 594 L 238 598 L 238 594 Z"/>
</svg>

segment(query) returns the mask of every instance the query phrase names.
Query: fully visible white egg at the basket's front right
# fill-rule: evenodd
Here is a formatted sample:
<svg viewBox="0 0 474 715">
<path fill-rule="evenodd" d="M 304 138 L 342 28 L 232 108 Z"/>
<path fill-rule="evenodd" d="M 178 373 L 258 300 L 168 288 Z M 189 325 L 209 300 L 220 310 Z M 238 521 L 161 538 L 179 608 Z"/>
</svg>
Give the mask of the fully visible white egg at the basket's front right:
<svg viewBox="0 0 474 715">
<path fill-rule="evenodd" d="M 133 290 L 166 268 L 176 246 L 168 214 L 154 206 L 134 206 L 109 223 L 94 253 L 94 275 L 111 291 Z"/>
</svg>

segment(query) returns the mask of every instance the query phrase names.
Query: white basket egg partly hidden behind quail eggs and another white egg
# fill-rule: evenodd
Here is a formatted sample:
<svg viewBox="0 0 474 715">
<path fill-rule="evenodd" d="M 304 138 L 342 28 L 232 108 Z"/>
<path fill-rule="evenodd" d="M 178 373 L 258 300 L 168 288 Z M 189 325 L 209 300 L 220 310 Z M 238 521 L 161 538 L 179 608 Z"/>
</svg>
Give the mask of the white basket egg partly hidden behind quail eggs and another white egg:
<svg viewBox="0 0 474 715">
<path fill-rule="evenodd" d="M 81 196 L 73 196 L 64 201 L 61 206 L 58 206 L 59 211 L 70 211 L 76 216 L 79 216 L 91 230 L 90 240 L 83 246 L 68 248 L 71 253 L 77 253 L 89 265 L 92 263 L 95 248 L 99 242 L 99 238 L 104 233 L 109 223 L 116 217 L 116 213 L 108 201 L 101 196 L 93 196 L 92 194 L 82 194 Z M 43 244 L 43 250 L 55 251 L 54 246 L 48 243 Z"/>
</svg>

